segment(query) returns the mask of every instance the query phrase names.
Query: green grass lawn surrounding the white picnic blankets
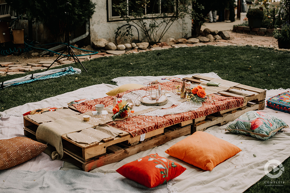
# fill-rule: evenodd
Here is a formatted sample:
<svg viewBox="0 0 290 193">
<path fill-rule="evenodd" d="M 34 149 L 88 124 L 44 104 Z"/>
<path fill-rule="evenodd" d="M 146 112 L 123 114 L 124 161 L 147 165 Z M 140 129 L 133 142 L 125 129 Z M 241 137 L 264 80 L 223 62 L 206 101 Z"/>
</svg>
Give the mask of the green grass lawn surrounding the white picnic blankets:
<svg viewBox="0 0 290 193">
<path fill-rule="evenodd" d="M 83 62 L 83 64 L 88 73 L 83 70 L 80 64 L 63 65 L 61 68 L 66 66 L 80 68 L 82 73 L 1 89 L 0 111 L 94 84 L 115 84 L 111 79 L 121 76 L 215 72 L 222 79 L 257 88 L 290 88 L 289 52 L 250 46 L 164 49 L 146 53 L 101 57 Z M 41 70 L 34 71 L 34 73 L 36 72 L 41 72 Z M 32 74 L 32 72 L 28 74 Z M 0 77 L 0 82 L 25 75 Z M 285 171 L 280 177 L 271 179 L 265 176 L 245 192 L 290 192 L 289 158 L 282 164 Z M 265 181 L 284 181 L 284 186 L 265 186 Z"/>
</svg>

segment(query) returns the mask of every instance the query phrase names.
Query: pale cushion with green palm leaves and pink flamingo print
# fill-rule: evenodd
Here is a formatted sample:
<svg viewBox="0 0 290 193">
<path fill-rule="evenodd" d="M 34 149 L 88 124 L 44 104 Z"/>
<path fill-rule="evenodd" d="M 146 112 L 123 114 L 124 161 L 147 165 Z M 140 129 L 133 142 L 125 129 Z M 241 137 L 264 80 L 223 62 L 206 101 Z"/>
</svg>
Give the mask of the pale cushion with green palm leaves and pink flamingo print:
<svg viewBox="0 0 290 193">
<path fill-rule="evenodd" d="M 226 131 L 267 140 L 283 128 L 288 128 L 288 125 L 276 116 L 259 111 L 249 111 L 234 120 L 226 127 Z"/>
</svg>

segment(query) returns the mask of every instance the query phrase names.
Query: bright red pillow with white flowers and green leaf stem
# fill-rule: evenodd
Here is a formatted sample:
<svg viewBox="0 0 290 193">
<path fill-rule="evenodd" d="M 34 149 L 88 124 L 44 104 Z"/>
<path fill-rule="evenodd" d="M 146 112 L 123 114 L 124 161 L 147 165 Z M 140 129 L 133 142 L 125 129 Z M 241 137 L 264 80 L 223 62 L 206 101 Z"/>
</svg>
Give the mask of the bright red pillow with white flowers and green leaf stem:
<svg viewBox="0 0 290 193">
<path fill-rule="evenodd" d="M 185 170 L 181 165 L 156 153 L 125 164 L 116 171 L 139 184 L 154 188 L 179 176 Z"/>
</svg>

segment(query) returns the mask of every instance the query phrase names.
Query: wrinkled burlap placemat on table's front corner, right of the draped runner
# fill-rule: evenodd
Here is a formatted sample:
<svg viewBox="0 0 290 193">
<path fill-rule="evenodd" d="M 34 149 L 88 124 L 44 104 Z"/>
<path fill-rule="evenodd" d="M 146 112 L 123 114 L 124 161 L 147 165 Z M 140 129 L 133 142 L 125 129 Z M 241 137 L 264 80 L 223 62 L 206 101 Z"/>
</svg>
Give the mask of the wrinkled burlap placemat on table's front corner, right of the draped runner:
<svg viewBox="0 0 290 193">
<path fill-rule="evenodd" d="M 100 142 L 109 137 L 115 138 L 120 133 L 123 132 L 107 124 L 99 124 L 95 129 L 83 129 L 81 132 L 68 133 L 66 136 L 78 143 L 91 144 L 93 142 Z"/>
</svg>

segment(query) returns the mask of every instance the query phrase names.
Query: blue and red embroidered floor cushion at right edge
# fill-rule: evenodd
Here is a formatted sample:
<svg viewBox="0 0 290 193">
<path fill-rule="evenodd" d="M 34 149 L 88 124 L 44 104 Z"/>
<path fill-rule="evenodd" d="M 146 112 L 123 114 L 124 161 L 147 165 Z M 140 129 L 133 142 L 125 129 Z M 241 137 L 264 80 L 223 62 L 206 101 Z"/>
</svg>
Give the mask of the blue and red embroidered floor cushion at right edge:
<svg viewBox="0 0 290 193">
<path fill-rule="evenodd" d="M 283 92 L 267 100 L 270 109 L 290 113 L 290 92 Z"/>
</svg>

